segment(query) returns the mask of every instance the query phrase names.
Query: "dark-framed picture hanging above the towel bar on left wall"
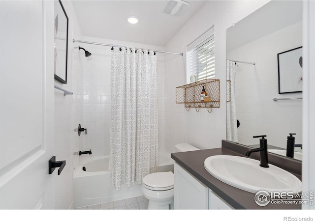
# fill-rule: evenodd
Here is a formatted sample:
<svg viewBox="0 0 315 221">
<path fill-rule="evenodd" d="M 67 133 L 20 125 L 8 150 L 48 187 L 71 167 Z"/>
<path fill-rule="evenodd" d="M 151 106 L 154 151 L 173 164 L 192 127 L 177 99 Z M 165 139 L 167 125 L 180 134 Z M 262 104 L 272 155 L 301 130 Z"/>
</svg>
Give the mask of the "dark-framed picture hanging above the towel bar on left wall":
<svg viewBox="0 0 315 221">
<path fill-rule="evenodd" d="M 55 80 L 67 83 L 68 16 L 63 3 L 55 2 Z"/>
</svg>

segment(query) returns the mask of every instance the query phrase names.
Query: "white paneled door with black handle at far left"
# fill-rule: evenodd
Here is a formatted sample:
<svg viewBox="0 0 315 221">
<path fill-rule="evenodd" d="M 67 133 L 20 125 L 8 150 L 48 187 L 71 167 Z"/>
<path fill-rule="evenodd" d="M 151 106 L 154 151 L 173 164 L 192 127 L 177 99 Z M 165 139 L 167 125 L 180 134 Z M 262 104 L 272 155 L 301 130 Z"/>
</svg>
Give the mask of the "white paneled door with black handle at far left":
<svg viewBox="0 0 315 221">
<path fill-rule="evenodd" d="M 53 1 L 0 1 L 0 209 L 54 208 L 53 21 Z"/>
</svg>

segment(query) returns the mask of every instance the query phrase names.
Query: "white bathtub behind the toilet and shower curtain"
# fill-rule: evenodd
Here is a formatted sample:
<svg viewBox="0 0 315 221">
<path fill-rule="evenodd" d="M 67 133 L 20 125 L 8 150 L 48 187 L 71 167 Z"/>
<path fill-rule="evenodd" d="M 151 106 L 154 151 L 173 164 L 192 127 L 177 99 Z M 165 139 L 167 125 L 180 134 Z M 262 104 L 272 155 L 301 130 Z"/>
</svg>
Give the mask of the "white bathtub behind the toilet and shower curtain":
<svg viewBox="0 0 315 221">
<path fill-rule="evenodd" d="M 170 153 L 159 153 L 158 171 L 174 171 L 174 161 L 170 156 Z M 143 195 L 139 184 L 129 188 L 122 185 L 121 189 L 116 191 L 112 187 L 109 168 L 109 156 L 86 159 L 75 167 L 73 172 L 74 208 Z"/>
</svg>

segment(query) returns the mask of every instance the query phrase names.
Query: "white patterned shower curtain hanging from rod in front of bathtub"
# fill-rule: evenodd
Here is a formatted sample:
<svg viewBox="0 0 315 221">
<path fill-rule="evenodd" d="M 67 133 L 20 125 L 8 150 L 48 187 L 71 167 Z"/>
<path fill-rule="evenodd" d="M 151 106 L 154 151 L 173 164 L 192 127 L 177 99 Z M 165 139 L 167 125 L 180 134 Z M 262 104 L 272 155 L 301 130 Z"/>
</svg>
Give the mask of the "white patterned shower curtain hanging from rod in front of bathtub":
<svg viewBox="0 0 315 221">
<path fill-rule="evenodd" d="M 157 56 L 147 50 L 111 52 L 111 168 L 119 190 L 158 171 Z"/>
</svg>

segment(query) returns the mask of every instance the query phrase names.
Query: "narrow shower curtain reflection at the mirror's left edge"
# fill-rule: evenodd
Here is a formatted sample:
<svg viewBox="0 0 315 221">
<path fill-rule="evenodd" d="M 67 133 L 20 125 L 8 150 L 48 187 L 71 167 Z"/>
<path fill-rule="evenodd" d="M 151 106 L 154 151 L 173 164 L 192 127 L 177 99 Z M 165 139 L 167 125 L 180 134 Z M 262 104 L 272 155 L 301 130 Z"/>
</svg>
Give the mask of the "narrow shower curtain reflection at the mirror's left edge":
<svg viewBox="0 0 315 221">
<path fill-rule="evenodd" d="M 237 122 L 236 122 L 236 109 L 235 109 L 235 78 L 236 78 L 237 64 L 233 61 L 227 60 L 226 62 L 226 80 L 230 81 L 231 89 L 226 94 L 230 95 L 230 102 L 226 103 L 226 139 L 237 142 Z"/>
</svg>

